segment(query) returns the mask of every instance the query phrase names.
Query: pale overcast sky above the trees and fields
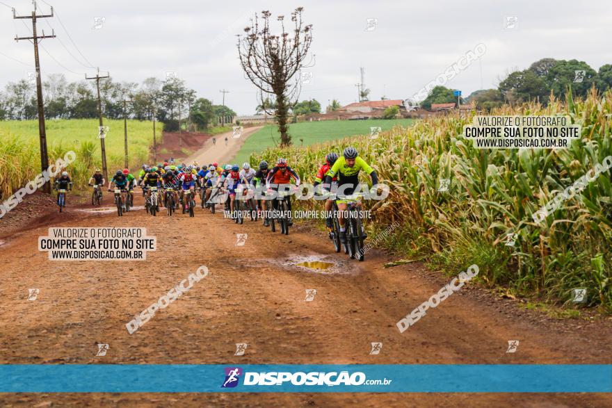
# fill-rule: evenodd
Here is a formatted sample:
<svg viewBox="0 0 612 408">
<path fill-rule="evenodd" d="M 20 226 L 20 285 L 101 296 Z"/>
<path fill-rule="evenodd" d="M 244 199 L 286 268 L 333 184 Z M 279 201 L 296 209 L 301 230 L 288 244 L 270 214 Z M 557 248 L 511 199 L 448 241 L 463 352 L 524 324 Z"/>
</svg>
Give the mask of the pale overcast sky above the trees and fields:
<svg viewBox="0 0 612 408">
<path fill-rule="evenodd" d="M 240 115 L 255 113 L 257 95 L 241 71 L 235 34 L 261 10 L 289 16 L 296 6 L 305 8 L 303 18 L 314 28 L 314 66 L 305 69 L 313 77 L 303 85 L 300 100 L 315 98 L 323 108 L 329 99 L 339 99 L 343 105 L 357 99 L 360 67 L 370 99 L 383 95 L 405 99 L 481 42 L 487 47 L 485 55 L 446 84 L 464 96 L 494 88 L 500 76 L 540 58 L 576 58 L 595 70 L 612 63 L 609 1 L 47 2 L 54 6 L 56 18 L 39 20 L 39 34 L 40 28 L 50 33 L 51 26 L 58 37 L 42 41 L 43 78 L 63 73 L 75 81 L 86 72 L 95 73 L 83 66 L 90 64 L 69 33 L 91 65 L 110 72 L 117 81 L 163 79 L 166 72 L 175 71 L 198 97 L 215 104 L 221 102 L 219 90 L 229 90 L 225 104 Z M 31 1 L 0 3 L 15 7 L 18 15 L 32 11 Z M 45 2 L 38 5 L 40 13 L 48 12 Z M 508 29 L 510 16 L 517 19 L 515 28 Z M 92 29 L 94 17 L 104 17 L 102 28 Z M 367 19 L 377 19 L 376 28 L 368 31 Z M 26 66 L 33 65 L 33 47 L 15 42 L 15 34 L 31 35 L 31 20 L 14 20 L 10 8 L 0 4 L 0 88 L 25 79 L 33 70 Z"/>
</svg>

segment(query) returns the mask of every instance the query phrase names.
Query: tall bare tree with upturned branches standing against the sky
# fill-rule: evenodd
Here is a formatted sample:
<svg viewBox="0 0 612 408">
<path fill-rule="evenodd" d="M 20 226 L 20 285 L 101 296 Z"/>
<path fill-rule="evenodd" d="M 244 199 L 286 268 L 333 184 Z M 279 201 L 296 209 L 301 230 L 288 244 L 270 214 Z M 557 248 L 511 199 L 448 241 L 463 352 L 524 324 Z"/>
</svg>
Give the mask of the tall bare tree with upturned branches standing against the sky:
<svg viewBox="0 0 612 408">
<path fill-rule="evenodd" d="M 281 32 L 271 33 L 272 13 L 264 10 L 261 17 L 256 14 L 255 19 L 251 19 L 251 26 L 244 29 L 244 35 L 238 35 L 240 63 L 247 78 L 259 88 L 261 106 L 268 106 L 264 111 L 276 117 L 281 146 L 291 145 L 287 116 L 300 96 L 300 76 L 296 74 L 305 67 L 303 63 L 312 42 L 312 24 L 302 22 L 303 10 L 298 7 L 291 13 L 294 25 L 291 33 L 285 31 L 282 15 L 277 17 Z M 273 103 L 264 104 L 271 97 Z"/>
</svg>

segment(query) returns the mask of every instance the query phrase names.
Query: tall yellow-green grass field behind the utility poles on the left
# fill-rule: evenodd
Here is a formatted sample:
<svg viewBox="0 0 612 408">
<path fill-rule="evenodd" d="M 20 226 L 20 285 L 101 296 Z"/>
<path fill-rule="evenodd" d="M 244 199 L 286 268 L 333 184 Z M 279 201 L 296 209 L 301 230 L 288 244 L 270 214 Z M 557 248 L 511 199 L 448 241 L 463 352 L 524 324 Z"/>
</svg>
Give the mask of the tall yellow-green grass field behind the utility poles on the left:
<svg viewBox="0 0 612 408">
<path fill-rule="evenodd" d="M 122 120 L 105 120 L 106 162 L 108 172 L 124 167 L 124 133 Z M 163 124 L 156 124 L 157 141 L 161 142 Z M 47 150 L 49 161 L 63 157 L 65 152 L 77 153 L 77 161 L 68 170 L 77 186 L 83 186 L 92 170 L 102 166 L 98 120 L 47 120 Z M 138 120 L 127 122 L 130 168 L 148 161 L 153 143 L 153 123 Z M 40 173 L 38 120 L 0 122 L 0 193 L 23 186 Z"/>
</svg>

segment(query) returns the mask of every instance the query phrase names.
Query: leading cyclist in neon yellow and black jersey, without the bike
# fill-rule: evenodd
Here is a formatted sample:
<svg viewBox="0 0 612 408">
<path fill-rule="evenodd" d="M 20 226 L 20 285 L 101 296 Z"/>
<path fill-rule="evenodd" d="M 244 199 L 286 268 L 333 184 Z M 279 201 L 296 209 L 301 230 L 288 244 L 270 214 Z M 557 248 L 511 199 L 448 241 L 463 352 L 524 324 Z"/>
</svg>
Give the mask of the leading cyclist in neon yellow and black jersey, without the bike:
<svg viewBox="0 0 612 408">
<path fill-rule="evenodd" d="M 378 184 L 378 177 L 376 172 L 370 167 L 368 163 L 364 161 L 358 154 L 355 147 L 347 147 L 342 152 L 342 157 L 332 165 L 332 168 L 325 174 L 325 183 L 331 186 L 332 178 L 338 175 L 338 188 L 343 185 L 351 184 L 350 187 L 345 187 L 345 195 L 352 195 L 355 192 L 355 188 L 359 183 L 359 172 L 363 170 L 370 175 L 372 184 Z M 346 242 L 346 227 L 344 226 L 344 218 L 342 218 L 342 212 L 346 211 L 347 202 L 351 200 L 337 199 L 338 204 L 338 222 L 340 224 L 340 240 L 342 243 Z M 361 202 L 357 200 L 355 204 L 358 208 L 361 208 Z"/>
</svg>

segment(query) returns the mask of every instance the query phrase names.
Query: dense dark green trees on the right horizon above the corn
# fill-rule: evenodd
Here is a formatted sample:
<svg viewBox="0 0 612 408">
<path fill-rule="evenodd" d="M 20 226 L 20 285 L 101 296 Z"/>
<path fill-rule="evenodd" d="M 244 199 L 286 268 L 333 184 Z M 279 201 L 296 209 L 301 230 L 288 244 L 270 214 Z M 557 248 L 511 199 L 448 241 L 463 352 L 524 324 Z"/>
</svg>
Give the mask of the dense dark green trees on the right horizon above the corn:
<svg viewBox="0 0 612 408">
<path fill-rule="evenodd" d="M 526 70 L 510 72 L 499 81 L 497 89 L 477 90 L 460 101 L 474 101 L 479 108 L 487 111 L 504 103 L 521 104 L 532 100 L 546 105 L 551 92 L 555 97 L 564 98 L 570 85 L 574 97 L 586 97 L 593 87 L 599 92 L 609 90 L 612 88 L 612 64 L 602 65 L 595 71 L 584 61 L 542 58 Z M 421 102 L 421 107 L 430 109 L 431 104 L 456 102 L 453 91 L 436 86 Z"/>
</svg>

